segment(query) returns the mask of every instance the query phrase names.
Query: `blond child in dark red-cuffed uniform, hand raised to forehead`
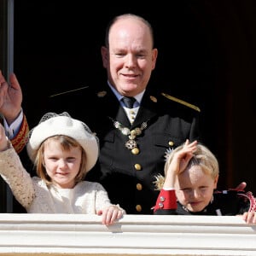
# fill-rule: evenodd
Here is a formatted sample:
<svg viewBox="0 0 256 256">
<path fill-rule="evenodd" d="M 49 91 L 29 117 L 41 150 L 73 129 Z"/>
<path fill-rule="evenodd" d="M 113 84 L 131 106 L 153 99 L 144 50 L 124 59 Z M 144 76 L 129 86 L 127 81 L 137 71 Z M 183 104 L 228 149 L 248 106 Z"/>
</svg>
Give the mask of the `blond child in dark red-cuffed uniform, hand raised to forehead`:
<svg viewBox="0 0 256 256">
<path fill-rule="evenodd" d="M 154 214 L 238 215 L 256 224 L 256 201 L 251 192 L 218 191 L 218 160 L 196 141 L 174 149 L 166 159 L 166 177 L 155 182 L 160 195 Z"/>
</svg>

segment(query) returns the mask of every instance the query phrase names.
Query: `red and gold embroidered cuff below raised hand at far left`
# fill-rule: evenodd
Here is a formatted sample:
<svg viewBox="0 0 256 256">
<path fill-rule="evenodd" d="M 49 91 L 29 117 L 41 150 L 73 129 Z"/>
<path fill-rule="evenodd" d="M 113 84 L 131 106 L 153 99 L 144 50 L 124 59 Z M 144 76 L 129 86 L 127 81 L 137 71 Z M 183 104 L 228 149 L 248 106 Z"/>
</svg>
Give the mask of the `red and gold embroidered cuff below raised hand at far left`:
<svg viewBox="0 0 256 256">
<path fill-rule="evenodd" d="M 15 151 L 18 154 L 26 146 L 26 143 L 28 140 L 28 132 L 29 132 L 29 127 L 26 121 L 26 116 L 24 114 L 22 124 L 20 125 L 20 131 L 15 136 L 15 138 L 11 140 L 11 143 L 13 144 L 13 147 L 15 148 Z"/>
</svg>

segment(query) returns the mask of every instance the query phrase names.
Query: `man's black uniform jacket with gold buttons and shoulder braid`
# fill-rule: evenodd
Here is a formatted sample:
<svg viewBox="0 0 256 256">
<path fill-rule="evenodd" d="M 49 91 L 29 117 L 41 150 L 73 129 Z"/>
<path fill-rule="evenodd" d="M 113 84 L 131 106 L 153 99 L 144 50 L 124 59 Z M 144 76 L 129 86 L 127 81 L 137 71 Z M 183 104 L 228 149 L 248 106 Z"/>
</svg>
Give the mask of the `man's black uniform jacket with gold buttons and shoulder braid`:
<svg viewBox="0 0 256 256">
<path fill-rule="evenodd" d="M 154 176 L 164 172 L 166 150 L 176 148 L 186 139 L 199 139 L 199 109 L 173 101 L 162 93 L 166 91 L 146 90 L 132 126 L 108 86 L 53 96 L 44 112 L 67 111 L 96 133 L 101 153 L 85 179 L 102 183 L 112 203 L 119 204 L 129 214 L 153 214 L 151 208 L 158 195 Z M 114 121 L 130 131 L 145 122 L 146 129 L 135 139 L 138 150 L 125 147 L 129 138 L 114 127 Z"/>
</svg>

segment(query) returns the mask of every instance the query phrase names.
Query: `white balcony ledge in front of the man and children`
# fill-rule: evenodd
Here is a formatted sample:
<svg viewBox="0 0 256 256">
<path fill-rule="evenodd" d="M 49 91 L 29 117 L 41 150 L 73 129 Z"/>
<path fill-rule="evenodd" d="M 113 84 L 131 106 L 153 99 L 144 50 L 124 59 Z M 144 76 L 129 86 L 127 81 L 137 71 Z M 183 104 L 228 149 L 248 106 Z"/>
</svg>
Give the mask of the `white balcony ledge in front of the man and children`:
<svg viewBox="0 0 256 256">
<path fill-rule="evenodd" d="M 239 217 L 0 213 L 0 255 L 256 255 Z"/>
</svg>

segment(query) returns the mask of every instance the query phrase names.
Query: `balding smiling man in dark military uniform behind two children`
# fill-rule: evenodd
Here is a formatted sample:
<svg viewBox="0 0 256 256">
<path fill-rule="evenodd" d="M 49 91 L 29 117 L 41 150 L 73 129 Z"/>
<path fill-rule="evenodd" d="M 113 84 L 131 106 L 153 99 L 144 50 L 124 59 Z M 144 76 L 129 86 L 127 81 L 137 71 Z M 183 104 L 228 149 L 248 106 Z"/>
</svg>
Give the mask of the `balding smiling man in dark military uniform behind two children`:
<svg viewBox="0 0 256 256">
<path fill-rule="evenodd" d="M 127 213 L 152 214 L 158 195 L 154 175 L 164 170 L 166 150 L 200 140 L 200 109 L 148 84 L 158 51 L 147 20 L 117 17 L 105 44 L 108 84 L 55 96 L 49 110 L 82 119 L 99 137 L 99 161 L 86 179 L 102 183 Z"/>
</svg>

